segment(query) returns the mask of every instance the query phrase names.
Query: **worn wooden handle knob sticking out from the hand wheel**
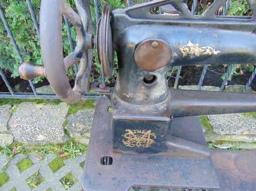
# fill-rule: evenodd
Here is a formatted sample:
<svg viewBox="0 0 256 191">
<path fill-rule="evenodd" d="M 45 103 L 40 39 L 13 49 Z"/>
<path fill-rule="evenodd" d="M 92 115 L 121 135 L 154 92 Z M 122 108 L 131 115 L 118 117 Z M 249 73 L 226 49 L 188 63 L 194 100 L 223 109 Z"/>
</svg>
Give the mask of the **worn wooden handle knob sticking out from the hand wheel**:
<svg viewBox="0 0 256 191">
<path fill-rule="evenodd" d="M 45 76 L 45 67 L 33 64 L 32 62 L 22 62 L 18 67 L 19 75 L 24 80 L 32 80 L 35 77 Z"/>
</svg>

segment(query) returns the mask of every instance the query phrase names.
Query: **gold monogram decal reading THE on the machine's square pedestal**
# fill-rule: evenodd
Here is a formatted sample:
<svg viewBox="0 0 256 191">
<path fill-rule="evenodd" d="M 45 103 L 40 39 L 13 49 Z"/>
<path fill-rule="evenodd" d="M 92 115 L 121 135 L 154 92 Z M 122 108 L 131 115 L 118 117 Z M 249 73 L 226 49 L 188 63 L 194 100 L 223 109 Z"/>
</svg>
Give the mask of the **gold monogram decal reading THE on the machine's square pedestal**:
<svg viewBox="0 0 256 191">
<path fill-rule="evenodd" d="M 151 147 L 155 141 L 152 138 L 156 138 L 155 133 L 151 133 L 151 130 L 130 130 L 126 129 L 127 133 L 122 135 L 127 140 L 122 139 L 122 142 L 127 147 Z"/>
</svg>

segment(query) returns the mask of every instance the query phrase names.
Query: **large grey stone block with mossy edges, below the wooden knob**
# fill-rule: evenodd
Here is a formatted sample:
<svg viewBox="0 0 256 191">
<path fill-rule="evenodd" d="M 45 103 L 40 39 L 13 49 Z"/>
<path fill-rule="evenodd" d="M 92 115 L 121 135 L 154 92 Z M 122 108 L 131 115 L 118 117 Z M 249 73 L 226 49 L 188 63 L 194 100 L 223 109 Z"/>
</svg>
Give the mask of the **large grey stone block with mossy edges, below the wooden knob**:
<svg viewBox="0 0 256 191">
<path fill-rule="evenodd" d="M 65 142 L 62 124 L 67 111 L 66 104 L 22 102 L 11 116 L 9 132 L 22 143 Z"/>
</svg>

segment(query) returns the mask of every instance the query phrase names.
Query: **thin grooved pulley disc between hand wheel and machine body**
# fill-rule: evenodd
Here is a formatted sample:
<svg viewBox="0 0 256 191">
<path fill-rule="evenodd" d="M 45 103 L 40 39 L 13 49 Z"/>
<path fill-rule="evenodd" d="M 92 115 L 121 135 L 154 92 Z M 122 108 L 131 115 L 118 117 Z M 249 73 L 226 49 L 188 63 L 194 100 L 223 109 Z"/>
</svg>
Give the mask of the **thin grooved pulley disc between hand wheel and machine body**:
<svg viewBox="0 0 256 191">
<path fill-rule="evenodd" d="M 105 5 L 97 30 L 97 53 L 101 70 L 105 77 L 111 76 L 114 64 L 114 50 L 111 32 L 112 6 Z"/>
</svg>

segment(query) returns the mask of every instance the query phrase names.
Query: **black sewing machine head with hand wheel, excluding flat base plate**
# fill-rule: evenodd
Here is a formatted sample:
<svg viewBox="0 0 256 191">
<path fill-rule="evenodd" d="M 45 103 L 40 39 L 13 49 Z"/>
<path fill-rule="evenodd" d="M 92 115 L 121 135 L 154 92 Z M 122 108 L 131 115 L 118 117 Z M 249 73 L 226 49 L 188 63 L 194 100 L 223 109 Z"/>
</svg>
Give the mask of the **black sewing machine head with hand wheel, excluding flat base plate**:
<svg viewBox="0 0 256 191">
<path fill-rule="evenodd" d="M 45 69 L 36 67 L 37 74 L 32 75 L 35 70 L 29 71 L 29 64 L 23 63 L 20 75 L 24 79 L 45 75 L 56 95 L 67 103 L 77 102 L 90 88 L 111 95 L 111 152 L 209 158 L 203 141 L 187 135 L 187 122 L 180 123 L 183 131 L 179 136 L 175 134 L 179 128 L 177 124 L 172 127 L 174 118 L 256 111 L 256 96 L 172 89 L 167 85 L 166 73 L 179 65 L 256 63 L 256 17 L 216 16 L 224 2 L 214 1 L 202 15 L 193 15 L 184 0 L 153 0 L 122 10 L 104 6 L 94 39 L 88 1 L 76 0 L 78 16 L 65 0 L 42 0 L 40 33 Z M 254 1 L 248 3 L 256 11 Z M 149 13 L 161 6 L 166 14 Z M 63 14 L 77 30 L 76 49 L 66 58 L 61 40 Z M 112 92 L 95 83 L 89 85 L 95 45 L 105 77 L 111 76 L 114 51 L 117 53 L 118 77 Z M 71 89 L 65 70 L 79 60 Z M 190 137 L 202 136 L 193 133 L 198 135 Z M 213 183 L 208 186 L 218 187 Z"/>
</svg>

